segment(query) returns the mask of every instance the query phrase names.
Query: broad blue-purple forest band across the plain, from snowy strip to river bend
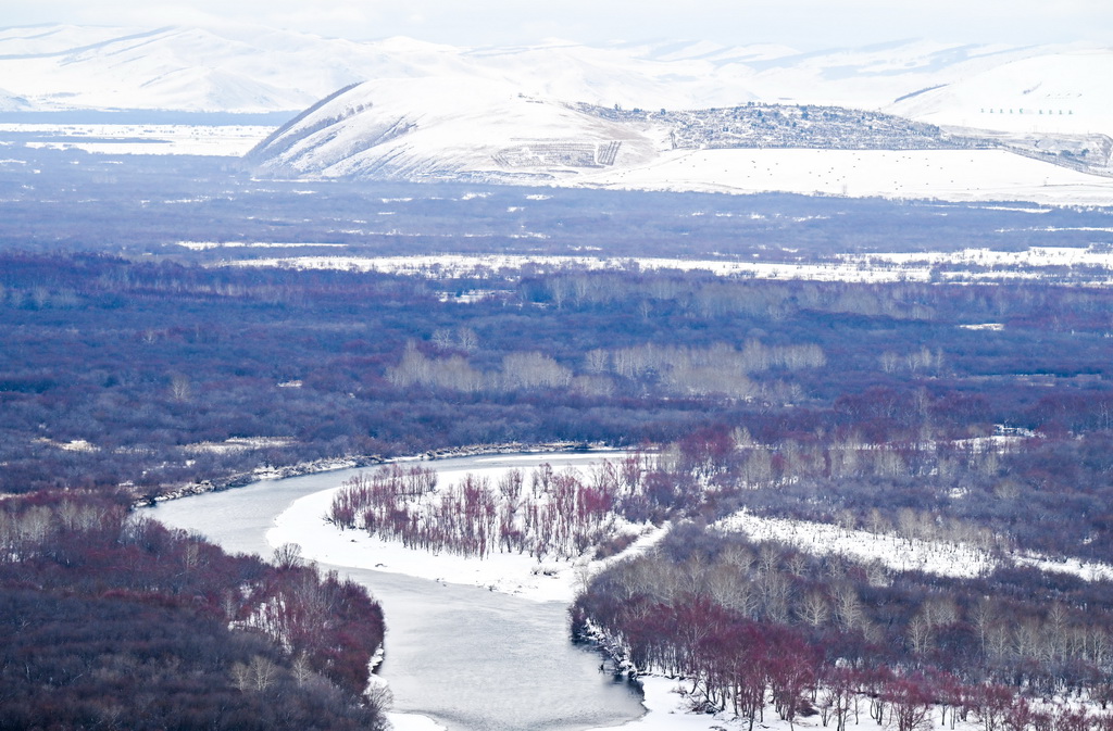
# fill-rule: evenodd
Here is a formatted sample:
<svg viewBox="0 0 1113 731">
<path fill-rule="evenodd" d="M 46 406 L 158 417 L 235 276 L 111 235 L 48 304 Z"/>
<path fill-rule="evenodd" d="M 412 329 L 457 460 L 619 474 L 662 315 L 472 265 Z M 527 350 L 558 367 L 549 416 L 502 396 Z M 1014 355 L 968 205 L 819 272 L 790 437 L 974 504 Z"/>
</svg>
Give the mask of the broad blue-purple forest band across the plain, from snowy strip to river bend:
<svg viewBox="0 0 1113 731">
<path fill-rule="evenodd" d="M 493 294 L 456 297 L 475 289 Z M 715 424 L 801 450 L 995 424 L 1104 429 L 1111 298 L 1037 284 L 636 270 L 433 281 L 7 254 L 0 488 L 147 494 L 265 464 L 666 442 Z M 999 329 L 966 327 L 983 323 Z"/>
</svg>

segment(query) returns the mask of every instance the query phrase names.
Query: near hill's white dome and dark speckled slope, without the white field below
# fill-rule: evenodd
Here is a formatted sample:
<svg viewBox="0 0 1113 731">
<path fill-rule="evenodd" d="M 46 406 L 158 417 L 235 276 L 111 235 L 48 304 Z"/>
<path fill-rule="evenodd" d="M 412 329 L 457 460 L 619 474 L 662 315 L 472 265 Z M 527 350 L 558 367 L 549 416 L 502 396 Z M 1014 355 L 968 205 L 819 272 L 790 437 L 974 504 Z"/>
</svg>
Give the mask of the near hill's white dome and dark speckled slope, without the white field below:
<svg viewBox="0 0 1113 731">
<path fill-rule="evenodd" d="M 285 125 L 247 162 L 273 175 L 563 181 L 651 164 L 674 150 L 985 146 L 841 107 L 623 110 L 518 89 L 466 76 L 367 81 Z"/>
</svg>

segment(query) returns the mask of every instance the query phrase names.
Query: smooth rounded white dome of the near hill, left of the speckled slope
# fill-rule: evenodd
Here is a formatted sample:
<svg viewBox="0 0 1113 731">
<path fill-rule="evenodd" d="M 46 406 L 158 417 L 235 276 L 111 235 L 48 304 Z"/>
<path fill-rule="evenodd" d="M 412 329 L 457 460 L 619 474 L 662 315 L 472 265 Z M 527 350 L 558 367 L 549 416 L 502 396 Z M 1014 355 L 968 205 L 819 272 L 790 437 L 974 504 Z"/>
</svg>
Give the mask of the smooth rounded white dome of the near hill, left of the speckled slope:
<svg viewBox="0 0 1113 731">
<path fill-rule="evenodd" d="M 528 180 L 651 161 L 652 128 L 601 119 L 467 78 L 371 81 L 257 148 L 263 171 L 394 179 Z"/>
</svg>

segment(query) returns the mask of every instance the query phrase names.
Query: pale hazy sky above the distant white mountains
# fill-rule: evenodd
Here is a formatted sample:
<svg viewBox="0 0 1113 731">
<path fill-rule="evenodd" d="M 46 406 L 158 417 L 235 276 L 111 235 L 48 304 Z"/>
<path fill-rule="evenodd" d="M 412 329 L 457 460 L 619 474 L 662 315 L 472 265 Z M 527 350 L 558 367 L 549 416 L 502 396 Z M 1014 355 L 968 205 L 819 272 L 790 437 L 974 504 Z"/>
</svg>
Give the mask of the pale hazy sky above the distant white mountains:
<svg viewBox="0 0 1113 731">
<path fill-rule="evenodd" d="M 814 50 L 928 38 L 1113 45 L 1110 0 L 0 0 L 0 26 L 258 22 L 460 46 L 676 38 Z"/>
</svg>

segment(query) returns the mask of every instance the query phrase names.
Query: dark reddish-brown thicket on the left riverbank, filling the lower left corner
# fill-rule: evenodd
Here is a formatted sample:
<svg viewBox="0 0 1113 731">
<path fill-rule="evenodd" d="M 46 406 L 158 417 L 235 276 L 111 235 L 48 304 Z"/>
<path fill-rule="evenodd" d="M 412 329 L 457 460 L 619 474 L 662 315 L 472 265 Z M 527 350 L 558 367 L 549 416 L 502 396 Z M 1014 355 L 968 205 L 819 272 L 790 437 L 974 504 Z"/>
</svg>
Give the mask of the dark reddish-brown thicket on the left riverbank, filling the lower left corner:
<svg viewBox="0 0 1113 731">
<path fill-rule="evenodd" d="M 127 502 L 0 503 L 0 729 L 383 728 L 364 697 L 383 616 L 362 587 Z"/>
</svg>

